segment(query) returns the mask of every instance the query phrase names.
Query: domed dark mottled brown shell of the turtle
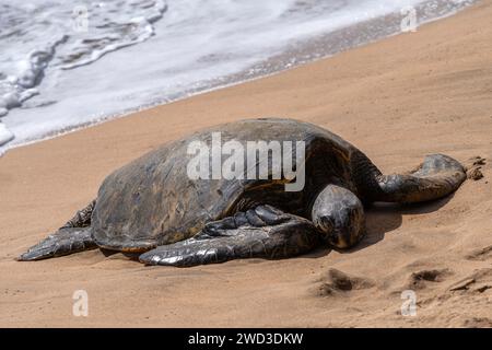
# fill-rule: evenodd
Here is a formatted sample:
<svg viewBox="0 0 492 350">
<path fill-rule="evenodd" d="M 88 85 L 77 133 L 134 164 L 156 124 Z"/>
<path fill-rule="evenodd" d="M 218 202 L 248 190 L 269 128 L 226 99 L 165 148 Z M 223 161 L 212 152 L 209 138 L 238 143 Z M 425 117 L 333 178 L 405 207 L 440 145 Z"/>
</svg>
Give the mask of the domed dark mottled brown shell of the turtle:
<svg viewBox="0 0 492 350">
<path fill-rule="evenodd" d="M 282 180 L 198 179 L 187 176 L 189 142 L 305 141 L 306 185 L 285 192 Z M 340 137 L 315 125 L 292 119 L 249 119 L 212 127 L 164 144 L 110 174 L 102 184 L 92 215 L 93 236 L 99 246 L 142 252 L 185 240 L 206 222 L 257 203 L 269 203 L 308 217 L 315 196 L 329 183 L 356 191 L 351 155 L 358 152 Z M 224 156 L 225 159 L 226 156 Z M 246 166 L 245 166 L 246 167 Z"/>
</svg>

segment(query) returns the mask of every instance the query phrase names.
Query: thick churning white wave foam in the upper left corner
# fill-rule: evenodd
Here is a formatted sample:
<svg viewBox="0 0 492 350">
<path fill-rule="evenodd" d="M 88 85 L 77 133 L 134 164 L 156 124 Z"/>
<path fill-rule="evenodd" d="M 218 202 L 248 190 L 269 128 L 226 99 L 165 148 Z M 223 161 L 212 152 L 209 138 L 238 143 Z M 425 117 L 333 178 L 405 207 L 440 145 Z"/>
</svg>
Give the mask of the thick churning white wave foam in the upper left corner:
<svg viewBox="0 0 492 350">
<path fill-rule="evenodd" d="M 0 117 L 39 94 L 48 66 L 73 69 L 149 39 L 166 8 L 162 0 L 0 3 L 0 43 L 7 47 L 0 58 Z M 12 139 L 0 124 L 0 145 Z"/>
</svg>

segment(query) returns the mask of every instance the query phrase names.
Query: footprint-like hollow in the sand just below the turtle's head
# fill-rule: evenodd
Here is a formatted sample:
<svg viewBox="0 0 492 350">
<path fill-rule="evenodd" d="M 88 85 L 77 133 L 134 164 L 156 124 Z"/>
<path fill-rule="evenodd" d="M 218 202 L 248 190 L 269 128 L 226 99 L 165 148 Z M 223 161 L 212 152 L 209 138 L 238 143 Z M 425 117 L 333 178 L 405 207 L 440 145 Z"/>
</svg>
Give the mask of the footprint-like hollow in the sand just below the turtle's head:
<svg viewBox="0 0 492 350">
<path fill-rule="evenodd" d="M 337 269 L 329 269 L 316 281 L 311 292 L 317 296 L 342 295 L 353 290 L 362 290 L 375 287 L 375 282 L 362 278 L 349 276 Z"/>
</svg>

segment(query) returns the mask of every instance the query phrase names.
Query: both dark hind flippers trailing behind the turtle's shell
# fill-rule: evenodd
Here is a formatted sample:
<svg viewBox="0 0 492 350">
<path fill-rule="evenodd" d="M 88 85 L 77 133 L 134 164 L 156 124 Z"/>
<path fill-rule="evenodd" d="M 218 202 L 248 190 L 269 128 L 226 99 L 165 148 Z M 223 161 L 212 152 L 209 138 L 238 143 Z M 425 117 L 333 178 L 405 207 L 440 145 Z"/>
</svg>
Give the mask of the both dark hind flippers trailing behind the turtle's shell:
<svg viewBox="0 0 492 350">
<path fill-rule="evenodd" d="M 96 244 L 92 238 L 90 228 L 94 206 L 95 200 L 89 203 L 84 209 L 79 210 L 75 215 L 56 233 L 32 246 L 26 253 L 22 254 L 17 260 L 40 260 L 95 248 Z"/>
</svg>

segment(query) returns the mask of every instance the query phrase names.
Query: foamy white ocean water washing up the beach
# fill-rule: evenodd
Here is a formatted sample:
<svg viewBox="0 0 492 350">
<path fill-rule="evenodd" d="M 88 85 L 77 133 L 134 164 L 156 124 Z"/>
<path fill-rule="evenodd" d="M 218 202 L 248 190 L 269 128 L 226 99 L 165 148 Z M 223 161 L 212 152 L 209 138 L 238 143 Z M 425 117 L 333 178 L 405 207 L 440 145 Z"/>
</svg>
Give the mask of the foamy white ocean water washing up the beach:
<svg viewBox="0 0 492 350">
<path fill-rule="evenodd" d="M 472 2 L 0 0 L 0 153 L 333 55 Z"/>
</svg>

